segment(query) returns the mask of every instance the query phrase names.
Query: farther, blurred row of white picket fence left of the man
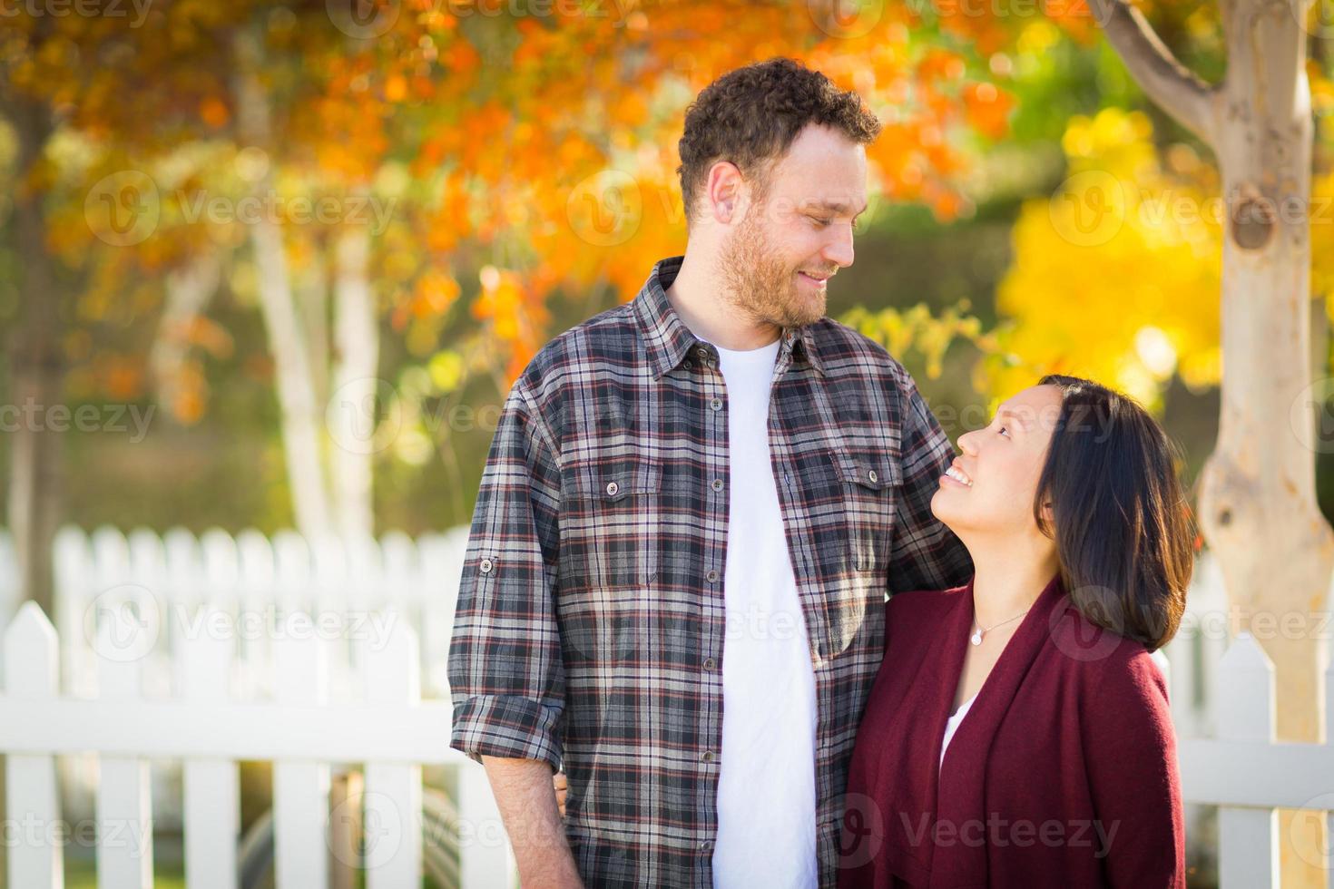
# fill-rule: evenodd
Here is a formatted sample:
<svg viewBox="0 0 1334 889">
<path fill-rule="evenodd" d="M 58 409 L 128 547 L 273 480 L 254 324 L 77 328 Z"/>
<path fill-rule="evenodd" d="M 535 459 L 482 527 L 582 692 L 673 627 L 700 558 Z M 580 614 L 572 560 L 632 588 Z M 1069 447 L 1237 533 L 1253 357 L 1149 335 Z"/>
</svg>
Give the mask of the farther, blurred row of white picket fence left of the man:
<svg viewBox="0 0 1334 889">
<path fill-rule="evenodd" d="M 383 632 L 379 609 L 392 608 L 420 640 L 423 694 L 448 700 L 446 654 L 467 529 L 412 540 L 390 533 L 348 550 L 339 541 L 308 544 L 292 532 L 269 540 L 256 530 L 231 534 L 212 529 L 197 538 L 183 529 L 163 536 L 113 528 L 85 534 L 64 528 L 56 538 L 55 622 L 61 638 L 60 673 L 65 694 L 92 697 L 97 689 L 92 620 L 108 600 L 131 600 L 156 629 L 145 645 L 143 688 L 151 697 L 179 692 L 176 640 L 196 626 L 207 602 L 233 614 L 236 650 L 232 688 L 243 700 L 272 698 L 273 638 L 293 614 L 319 617 L 328 632 L 328 688 L 334 701 L 364 694 L 350 636 Z M 8 541 L 0 540 L 0 577 Z M 0 593 L 12 585 L 0 581 Z M 0 602 L 0 626 L 12 605 Z M 344 630 L 344 632 L 339 632 Z M 152 766 L 157 824 L 179 829 L 181 770 L 177 762 Z M 63 801 L 76 820 L 91 817 L 97 764 L 91 756 L 61 760 Z"/>
</svg>

